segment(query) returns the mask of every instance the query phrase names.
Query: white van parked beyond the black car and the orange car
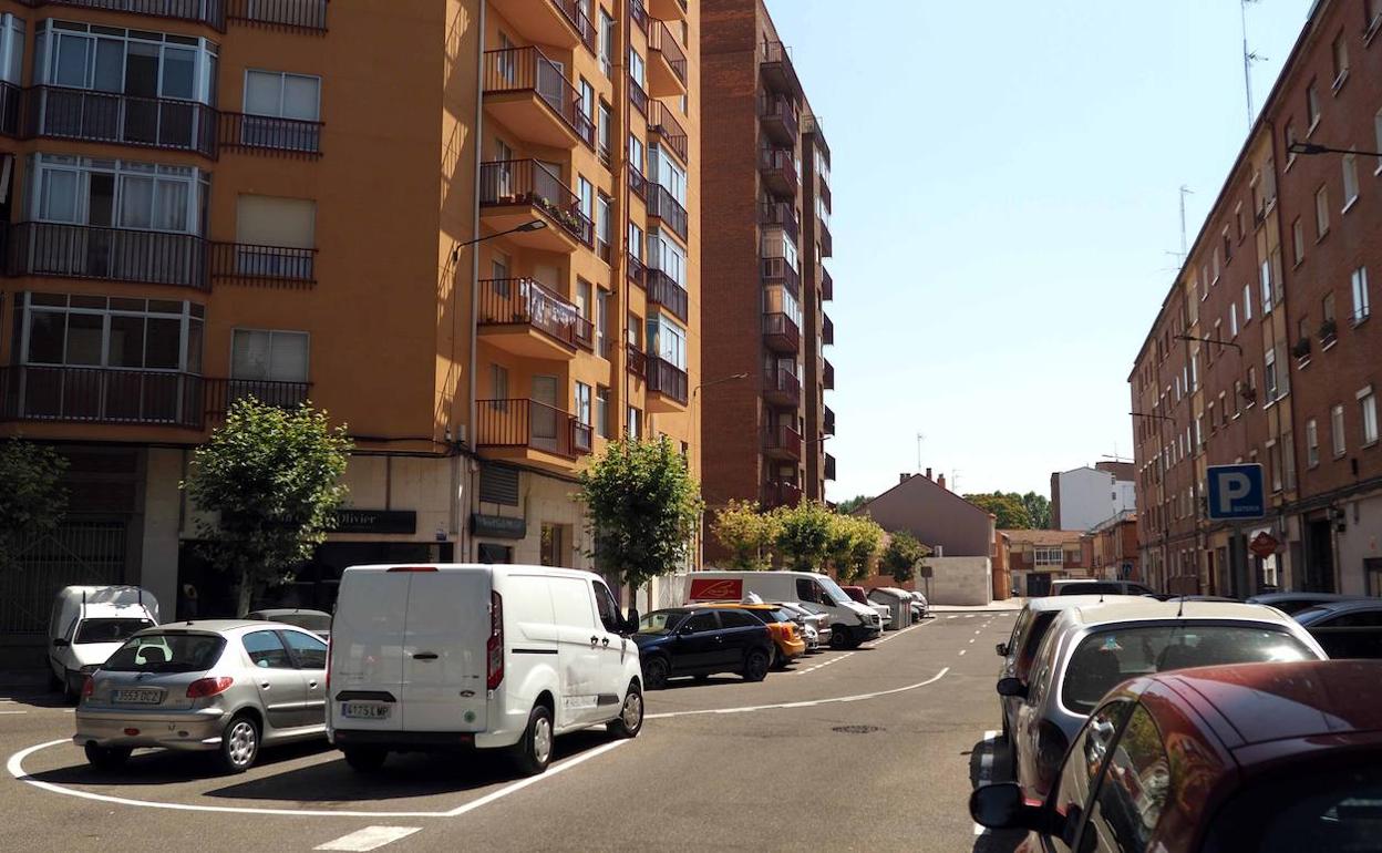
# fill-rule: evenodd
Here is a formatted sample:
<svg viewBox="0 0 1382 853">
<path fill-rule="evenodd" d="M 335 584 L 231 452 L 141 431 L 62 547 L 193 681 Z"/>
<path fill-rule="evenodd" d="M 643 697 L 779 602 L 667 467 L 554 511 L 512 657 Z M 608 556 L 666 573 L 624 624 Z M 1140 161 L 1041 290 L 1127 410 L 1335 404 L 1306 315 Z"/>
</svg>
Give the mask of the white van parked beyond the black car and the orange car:
<svg viewBox="0 0 1382 853">
<path fill-rule="evenodd" d="M 855 648 L 883 632 L 883 621 L 869 607 L 850 599 L 828 575 L 810 571 L 697 571 L 677 575 L 685 585 L 683 600 L 742 601 L 756 594 L 764 601 L 811 601 L 831 615 L 831 648 Z"/>
</svg>

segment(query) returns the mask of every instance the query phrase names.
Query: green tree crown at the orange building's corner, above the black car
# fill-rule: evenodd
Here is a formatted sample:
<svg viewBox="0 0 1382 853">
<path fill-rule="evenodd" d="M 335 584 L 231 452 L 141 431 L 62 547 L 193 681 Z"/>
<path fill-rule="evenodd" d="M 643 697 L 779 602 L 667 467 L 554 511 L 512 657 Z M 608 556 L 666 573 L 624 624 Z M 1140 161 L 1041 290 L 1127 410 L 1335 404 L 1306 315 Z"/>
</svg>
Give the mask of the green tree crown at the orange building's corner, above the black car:
<svg viewBox="0 0 1382 853">
<path fill-rule="evenodd" d="M 640 588 L 685 565 L 703 503 L 666 437 L 611 442 L 580 471 L 579 498 L 601 571 Z"/>
</svg>

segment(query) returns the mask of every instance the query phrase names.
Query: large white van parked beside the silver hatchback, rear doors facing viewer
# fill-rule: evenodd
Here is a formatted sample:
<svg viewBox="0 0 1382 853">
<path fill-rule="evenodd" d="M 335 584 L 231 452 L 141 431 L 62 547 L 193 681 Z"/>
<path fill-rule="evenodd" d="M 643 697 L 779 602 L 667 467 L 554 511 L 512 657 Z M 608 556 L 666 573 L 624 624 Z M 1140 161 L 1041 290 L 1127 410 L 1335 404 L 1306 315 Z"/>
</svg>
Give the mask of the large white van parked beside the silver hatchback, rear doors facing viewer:
<svg viewBox="0 0 1382 853">
<path fill-rule="evenodd" d="M 553 737 L 643 727 L 637 611 L 594 574 L 538 565 L 355 565 L 341 575 L 326 731 L 357 770 L 388 752 L 511 749 L 542 773 Z"/>
</svg>

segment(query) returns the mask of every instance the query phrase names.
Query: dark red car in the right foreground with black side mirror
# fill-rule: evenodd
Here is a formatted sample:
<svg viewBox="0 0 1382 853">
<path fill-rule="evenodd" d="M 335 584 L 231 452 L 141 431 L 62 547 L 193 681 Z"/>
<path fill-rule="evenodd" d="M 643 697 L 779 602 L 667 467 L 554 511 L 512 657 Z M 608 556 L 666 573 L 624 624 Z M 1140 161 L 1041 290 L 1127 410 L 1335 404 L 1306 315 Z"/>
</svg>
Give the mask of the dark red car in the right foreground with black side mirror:
<svg viewBox="0 0 1382 853">
<path fill-rule="evenodd" d="M 970 813 L 1020 850 L 1382 852 L 1382 661 L 1182 669 L 1104 697 L 1045 803 Z"/>
</svg>

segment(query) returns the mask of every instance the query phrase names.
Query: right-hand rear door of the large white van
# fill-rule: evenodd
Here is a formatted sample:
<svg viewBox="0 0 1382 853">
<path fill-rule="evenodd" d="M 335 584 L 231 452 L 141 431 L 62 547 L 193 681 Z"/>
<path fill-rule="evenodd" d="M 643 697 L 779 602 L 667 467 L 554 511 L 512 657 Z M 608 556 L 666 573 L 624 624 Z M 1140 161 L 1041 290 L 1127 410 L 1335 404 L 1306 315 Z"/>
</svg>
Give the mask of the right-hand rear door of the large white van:
<svg viewBox="0 0 1382 853">
<path fill-rule="evenodd" d="M 402 655 L 404 729 L 484 731 L 489 571 L 439 568 L 405 574 L 412 581 Z"/>
</svg>

